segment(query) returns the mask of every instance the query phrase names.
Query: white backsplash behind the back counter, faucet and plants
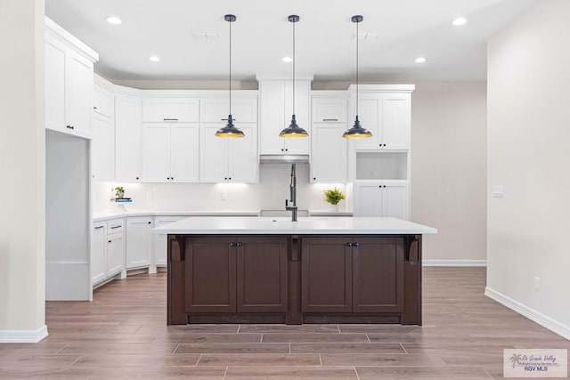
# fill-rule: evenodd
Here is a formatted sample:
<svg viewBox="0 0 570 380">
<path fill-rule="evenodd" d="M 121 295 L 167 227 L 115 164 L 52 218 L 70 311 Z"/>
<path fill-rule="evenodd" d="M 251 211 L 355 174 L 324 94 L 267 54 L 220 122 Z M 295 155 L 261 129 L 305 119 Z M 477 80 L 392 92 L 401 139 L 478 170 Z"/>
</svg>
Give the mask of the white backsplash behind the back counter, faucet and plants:
<svg viewBox="0 0 570 380">
<path fill-rule="evenodd" d="M 259 166 L 258 183 L 113 183 L 94 182 L 94 212 L 112 211 L 110 201 L 114 186 L 125 187 L 125 197 L 133 198 L 129 210 L 205 211 L 205 210 L 284 210 L 289 198 L 291 167 Z M 329 210 L 322 190 L 337 186 L 347 191 L 344 183 L 309 183 L 309 166 L 297 164 L 297 206 L 300 210 Z M 346 200 L 340 210 L 347 209 Z"/>
</svg>

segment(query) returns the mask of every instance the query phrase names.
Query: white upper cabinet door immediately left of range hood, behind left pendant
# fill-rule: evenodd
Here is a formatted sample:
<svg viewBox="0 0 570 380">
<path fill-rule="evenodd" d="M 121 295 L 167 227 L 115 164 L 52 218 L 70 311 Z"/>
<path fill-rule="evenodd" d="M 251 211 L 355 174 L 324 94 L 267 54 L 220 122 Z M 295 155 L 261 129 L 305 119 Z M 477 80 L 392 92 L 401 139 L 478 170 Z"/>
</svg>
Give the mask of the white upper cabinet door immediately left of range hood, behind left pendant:
<svg viewBox="0 0 570 380">
<path fill-rule="evenodd" d="M 245 137 L 228 140 L 229 182 L 258 182 L 259 156 L 257 155 L 256 125 L 240 124 Z"/>
</svg>

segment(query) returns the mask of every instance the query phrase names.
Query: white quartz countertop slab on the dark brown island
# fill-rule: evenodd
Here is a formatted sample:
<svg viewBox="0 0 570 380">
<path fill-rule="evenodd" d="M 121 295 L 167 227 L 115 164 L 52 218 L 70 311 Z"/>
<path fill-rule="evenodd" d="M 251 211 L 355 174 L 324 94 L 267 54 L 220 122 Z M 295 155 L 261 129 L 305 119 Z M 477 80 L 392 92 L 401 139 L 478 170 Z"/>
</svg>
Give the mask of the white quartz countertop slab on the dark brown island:
<svg viewBox="0 0 570 380">
<path fill-rule="evenodd" d="M 189 217 L 152 230 L 158 234 L 435 234 L 437 230 L 396 218 L 377 217 L 307 217 L 291 222 L 283 217 Z"/>
</svg>

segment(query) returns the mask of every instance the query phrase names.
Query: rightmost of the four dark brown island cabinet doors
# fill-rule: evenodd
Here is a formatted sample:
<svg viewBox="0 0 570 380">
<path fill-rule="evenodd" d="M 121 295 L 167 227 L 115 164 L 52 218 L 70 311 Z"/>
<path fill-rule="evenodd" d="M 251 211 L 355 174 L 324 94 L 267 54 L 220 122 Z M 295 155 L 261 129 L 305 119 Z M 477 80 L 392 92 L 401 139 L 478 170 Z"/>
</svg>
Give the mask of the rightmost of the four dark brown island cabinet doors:
<svg viewBox="0 0 570 380">
<path fill-rule="evenodd" d="M 354 237 L 353 311 L 403 311 L 403 238 Z"/>
</svg>

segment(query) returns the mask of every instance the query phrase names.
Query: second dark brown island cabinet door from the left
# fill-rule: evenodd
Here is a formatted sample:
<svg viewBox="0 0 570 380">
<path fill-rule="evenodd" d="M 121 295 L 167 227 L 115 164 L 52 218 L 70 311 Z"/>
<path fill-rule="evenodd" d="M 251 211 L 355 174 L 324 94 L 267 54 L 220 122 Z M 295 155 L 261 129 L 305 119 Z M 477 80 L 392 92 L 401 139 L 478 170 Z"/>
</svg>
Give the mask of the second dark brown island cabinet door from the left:
<svg viewBox="0 0 570 380">
<path fill-rule="evenodd" d="M 287 238 L 237 239 L 238 312 L 287 311 Z"/>
</svg>

